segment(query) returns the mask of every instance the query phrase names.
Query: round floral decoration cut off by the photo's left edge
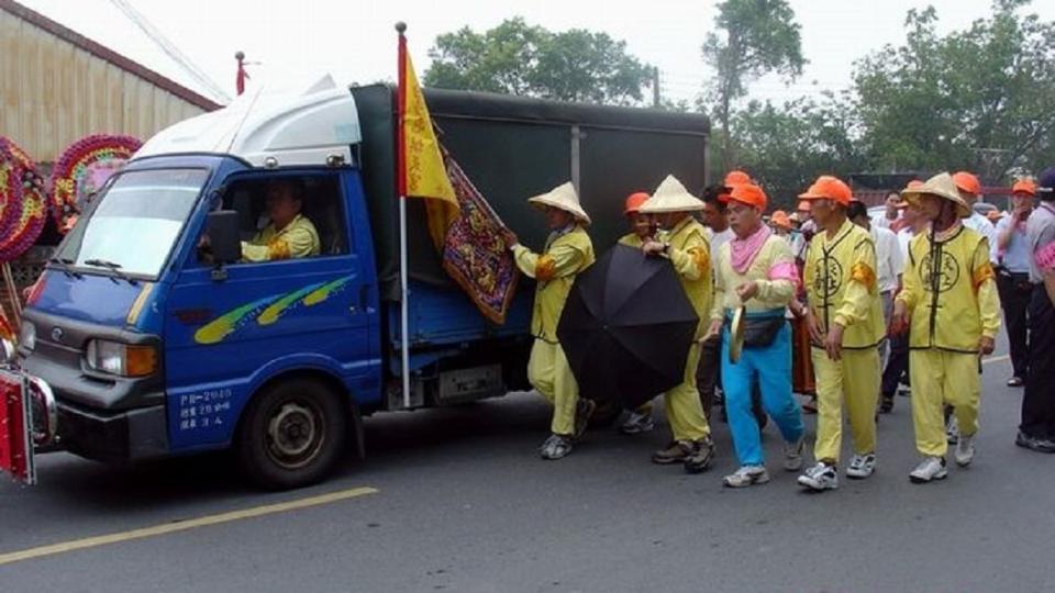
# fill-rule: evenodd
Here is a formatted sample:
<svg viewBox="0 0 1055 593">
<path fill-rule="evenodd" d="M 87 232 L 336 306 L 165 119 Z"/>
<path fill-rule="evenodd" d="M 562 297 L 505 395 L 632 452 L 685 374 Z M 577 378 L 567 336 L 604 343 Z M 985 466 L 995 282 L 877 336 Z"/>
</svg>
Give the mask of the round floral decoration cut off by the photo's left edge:
<svg viewBox="0 0 1055 593">
<path fill-rule="evenodd" d="M 14 142 L 0 136 L 0 261 L 11 261 L 41 236 L 47 216 L 44 178 Z"/>
</svg>

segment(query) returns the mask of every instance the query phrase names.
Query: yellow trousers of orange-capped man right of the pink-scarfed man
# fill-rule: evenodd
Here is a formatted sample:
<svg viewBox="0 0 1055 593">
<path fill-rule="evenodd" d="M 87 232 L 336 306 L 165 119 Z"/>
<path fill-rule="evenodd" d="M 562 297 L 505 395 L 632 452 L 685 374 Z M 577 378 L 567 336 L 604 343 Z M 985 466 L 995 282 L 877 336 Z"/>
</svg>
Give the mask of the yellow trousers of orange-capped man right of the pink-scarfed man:
<svg viewBox="0 0 1055 593">
<path fill-rule="evenodd" d="M 818 461 L 839 463 L 843 445 L 844 400 L 854 452 L 875 452 L 879 351 L 875 348 L 844 349 L 837 361 L 829 358 L 823 348 L 812 348 L 811 355 L 817 377 L 817 441 L 813 444 L 813 457 Z"/>
</svg>

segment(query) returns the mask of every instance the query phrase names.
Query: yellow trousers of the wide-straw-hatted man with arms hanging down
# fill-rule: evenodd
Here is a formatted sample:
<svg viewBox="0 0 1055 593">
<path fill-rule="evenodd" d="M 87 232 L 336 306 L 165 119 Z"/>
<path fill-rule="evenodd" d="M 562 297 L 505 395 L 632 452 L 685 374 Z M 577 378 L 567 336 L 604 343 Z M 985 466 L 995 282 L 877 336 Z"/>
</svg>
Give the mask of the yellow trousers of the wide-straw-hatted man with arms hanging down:
<svg viewBox="0 0 1055 593">
<path fill-rule="evenodd" d="M 912 380 L 912 423 L 915 448 L 930 457 L 943 457 L 948 449 L 945 436 L 945 404 L 955 406 L 962 435 L 978 432 L 981 380 L 978 355 L 930 348 L 909 353 Z"/>
</svg>

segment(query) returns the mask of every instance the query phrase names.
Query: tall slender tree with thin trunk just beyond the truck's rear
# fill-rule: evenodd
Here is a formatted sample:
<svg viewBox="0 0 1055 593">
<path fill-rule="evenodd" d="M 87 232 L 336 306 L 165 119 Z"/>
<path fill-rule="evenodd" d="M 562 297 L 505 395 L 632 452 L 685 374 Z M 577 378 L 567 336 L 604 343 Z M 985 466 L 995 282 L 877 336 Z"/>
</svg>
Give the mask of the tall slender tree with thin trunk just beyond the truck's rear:
<svg viewBox="0 0 1055 593">
<path fill-rule="evenodd" d="M 802 74 L 806 59 L 795 11 L 786 0 L 725 0 L 714 18 L 718 32 L 707 35 L 703 59 L 717 72 L 707 98 L 722 131 L 722 165 L 737 165 L 733 138 L 738 137 L 733 107 L 748 85 L 777 72 L 790 79 Z"/>
</svg>

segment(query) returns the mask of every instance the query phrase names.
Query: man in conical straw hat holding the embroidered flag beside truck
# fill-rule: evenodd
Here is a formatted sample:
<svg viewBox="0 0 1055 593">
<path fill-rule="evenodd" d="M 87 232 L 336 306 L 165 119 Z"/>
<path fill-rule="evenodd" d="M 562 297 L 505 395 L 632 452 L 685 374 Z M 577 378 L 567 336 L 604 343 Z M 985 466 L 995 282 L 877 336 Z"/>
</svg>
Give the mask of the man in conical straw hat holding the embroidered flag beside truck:
<svg viewBox="0 0 1055 593">
<path fill-rule="evenodd" d="M 536 282 L 531 317 L 535 343 L 528 361 L 528 379 L 553 404 L 553 434 L 542 445 L 542 457 L 560 459 L 571 452 L 593 411 L 593 402 L 579 400 L 578 384 L 557 340 L 557 322 L 571 283 L 576 275 L 593 264 L 593 244 L 584 228 L 590 224 L 590 217 L 579 205 L 570 182 L 528 201 L 546 214 L 549 237 L 543 253 L 535 254 L 521 245 L 508 228 L 502 231 L 502 238 L 512 249 L 520 271 Z"/>
</svg>

